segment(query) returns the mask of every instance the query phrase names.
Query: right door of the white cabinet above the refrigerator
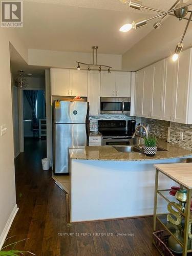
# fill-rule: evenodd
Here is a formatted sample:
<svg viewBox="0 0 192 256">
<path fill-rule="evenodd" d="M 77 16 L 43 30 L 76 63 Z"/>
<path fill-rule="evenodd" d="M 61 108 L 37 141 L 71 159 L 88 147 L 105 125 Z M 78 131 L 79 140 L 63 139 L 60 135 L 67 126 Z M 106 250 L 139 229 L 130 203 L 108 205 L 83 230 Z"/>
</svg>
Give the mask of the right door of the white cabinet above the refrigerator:
<svg viewBox="0 0 192 256">
<path fill-rule="evenodd" d="M 70 95 L 88 96 L 87 70 L 70 70 Z"/>
</svg>

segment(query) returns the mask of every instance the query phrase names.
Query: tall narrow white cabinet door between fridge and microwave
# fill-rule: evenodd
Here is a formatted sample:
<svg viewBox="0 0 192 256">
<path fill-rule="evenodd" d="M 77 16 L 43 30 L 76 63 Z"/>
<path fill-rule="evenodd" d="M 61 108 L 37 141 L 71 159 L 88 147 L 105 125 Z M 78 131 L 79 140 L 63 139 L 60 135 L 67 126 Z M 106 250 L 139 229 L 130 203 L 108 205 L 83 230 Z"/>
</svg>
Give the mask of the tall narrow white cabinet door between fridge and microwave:
<svg viewBox="0 0 192 256">
<path fill-rule="evenodd" d="M 88 73 L 88 101 L 90 104 L 90 116 L 98 116 L 100 110 L 100 72 Z"/>
</svg>

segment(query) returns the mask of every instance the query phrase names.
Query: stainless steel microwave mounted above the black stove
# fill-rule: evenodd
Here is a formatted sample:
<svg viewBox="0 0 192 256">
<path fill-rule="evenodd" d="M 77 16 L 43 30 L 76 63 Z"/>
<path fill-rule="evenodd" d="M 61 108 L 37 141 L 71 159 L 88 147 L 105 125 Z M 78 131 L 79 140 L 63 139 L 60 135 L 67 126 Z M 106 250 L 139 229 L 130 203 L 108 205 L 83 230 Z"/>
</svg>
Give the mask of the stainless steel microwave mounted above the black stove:
<svg viewBox="0 0 192 256">
<path fill-rule="evenodd" d="M 100 97 L 100 114 L 126 114 L 131 112 L 131 98 Z"/>
</svg>

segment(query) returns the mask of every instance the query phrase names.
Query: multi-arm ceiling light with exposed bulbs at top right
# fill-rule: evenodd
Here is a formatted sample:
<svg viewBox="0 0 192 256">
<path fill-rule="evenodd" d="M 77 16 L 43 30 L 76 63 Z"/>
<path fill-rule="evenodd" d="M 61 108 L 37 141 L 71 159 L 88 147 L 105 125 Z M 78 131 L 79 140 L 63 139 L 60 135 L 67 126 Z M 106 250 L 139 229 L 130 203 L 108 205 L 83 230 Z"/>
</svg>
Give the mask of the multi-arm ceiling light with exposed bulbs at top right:
<svg viewBox="0 0 192 256">
<path fill-rule="evenodd" d="M 184 4 L 183 3 L 183 0 L 177 0 L 174 5 L 172 5 L 172 7 L 170 7 L 170 9 L 166 12 L 164 11 L 161 11 L 161 10 L 158 10 L 158 9 L 154 9 L 154 8 L 151 8 L 151 7 L 148 7 L 148 6 L 143 6 L 142 5 L 142 1 L 139 1 L 139 0 L 120 0 L 121 2 L 125 3 L 125 4 L 128 4 L 130 7 L 134 8 L 134 9 L 137 9 L 137 10 L 140 10 L 141 8 L 144 8 L 144 9 L 148 9 L 148 10 L 152 10 L 152 11 L 156 11 L 156 12 L 160 12 L 161 14 L 158 14 L 152 18 L 148 18 L 148 19 L 144 19 L 144 20 L 141 20 L 139 22 L 133 22 L 132 23 L 132 28 L 134 29 L 137 29 L 137 28 L 140 28 L 140 27 L 143 27 L 144 25 L 147 24 L 148 21 L 150 20 L 153 20 L 153 19 L 156 19 L 156 18 L 160 18 L 155 24 L 154 24 L 154 28 L 155 29 L 158 29 L 163 20 L 165 19 L 165 17 L 167 15 L 173 15 L 175 16 L 176 18 L 178 18 L 179 20 L 182 20 L 182 19 L 187 19 L 187 24 L 186 24 L 186 27 L 185 27 L 185 30 L 183 32 L 183 35 L 182 35 L 182 38 L 181 38 L 181 41 L 179 42 L 179 44 L 177 44 L 177 47 L 176 47 L 176 50 L 175 50 L 175 53 L 172 57 L 173 61 L 176 61 L 179 57 L 179 54 L 180 52 L 182 51 L 182 48 L 183 48 L 183 39 L 185 37 L 185 34 L 186 34 L 186 31 L 187 31 L 187 28 L 188 28 L 188 25 L 191 21 L 191 18 L 192 18 L 192 11 L 188 9 L 188 6 L 192 5 L 192 3 L 187 3 L 187 4 Z M 179 3 L 180 2 L 180 3 Z M 185 17 L 187 15 L 187 13 L 190 13 L 190 16 L 189 17 Z M 127 24 L 123 25 L 119 30 L 122 31 L 122 32 L 126 32 L 126 31 L 123 31 L 123 27 L 125 26 L 126 27 Z M 131 27 L 131 26 L 130 26 Z M 131 29 L 131 28 L 130 28 Z M 129 29 L 129 30 L 130 30 Z M 127 31 L 129 31 L 127 30 Z"/>
</svg>

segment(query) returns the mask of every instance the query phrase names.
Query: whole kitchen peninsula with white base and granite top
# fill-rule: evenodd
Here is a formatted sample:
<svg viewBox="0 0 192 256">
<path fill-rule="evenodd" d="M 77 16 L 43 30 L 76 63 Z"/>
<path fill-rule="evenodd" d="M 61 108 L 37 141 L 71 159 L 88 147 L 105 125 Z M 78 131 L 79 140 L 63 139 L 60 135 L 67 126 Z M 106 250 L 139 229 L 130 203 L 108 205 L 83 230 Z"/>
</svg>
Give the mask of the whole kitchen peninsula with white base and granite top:
<svg viewBox="0 0 192 256">
<path fill-rule="evenodd" d="M 147 157 L 122 153 L 113 146 L 86 146 L 69 150 L 71 159 L 71 222 L 153 215 L 154 164 L 180 163 L 191 152 L 159 140 L 166 151 Z M 176 183 L 159 177 L 159 188 Z M 159 199 L 161 200 L 161 199 Z M 159 201 L 158 212 L 166 203 Z"/>
</svg>

